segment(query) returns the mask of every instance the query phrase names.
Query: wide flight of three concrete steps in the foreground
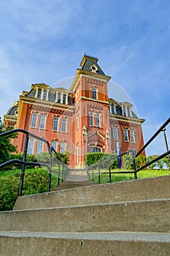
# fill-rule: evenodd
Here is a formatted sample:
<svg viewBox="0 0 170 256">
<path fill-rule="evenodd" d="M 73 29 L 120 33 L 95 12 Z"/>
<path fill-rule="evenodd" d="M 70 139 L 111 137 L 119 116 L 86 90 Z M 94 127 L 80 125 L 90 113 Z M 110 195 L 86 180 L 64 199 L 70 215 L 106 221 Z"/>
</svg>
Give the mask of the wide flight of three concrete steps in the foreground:
<svg viewBox="0 0 170 256">
<path fill-rule="evenodd" d="M 170 176 L 18 197 L 0 255 L 170 255 Z"/>
</svg>

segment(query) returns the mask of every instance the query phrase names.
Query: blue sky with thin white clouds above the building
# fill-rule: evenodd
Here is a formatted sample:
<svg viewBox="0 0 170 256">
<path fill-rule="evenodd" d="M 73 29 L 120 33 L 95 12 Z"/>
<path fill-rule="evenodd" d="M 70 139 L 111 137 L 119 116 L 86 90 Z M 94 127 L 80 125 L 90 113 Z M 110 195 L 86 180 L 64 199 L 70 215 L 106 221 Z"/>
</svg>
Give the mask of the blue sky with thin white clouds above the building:
<svg viewBox="0 0 170 256">
<path fill-rule="evenodd" d="M 75 75 L 88 53 L 146 120 L 146 142 L 169 118 L 169 13 L 168 0 L 0 0 L 0 116 L 31 83 Z M 147 154 L 164 150 L 161 135 Z"/>
</svg>

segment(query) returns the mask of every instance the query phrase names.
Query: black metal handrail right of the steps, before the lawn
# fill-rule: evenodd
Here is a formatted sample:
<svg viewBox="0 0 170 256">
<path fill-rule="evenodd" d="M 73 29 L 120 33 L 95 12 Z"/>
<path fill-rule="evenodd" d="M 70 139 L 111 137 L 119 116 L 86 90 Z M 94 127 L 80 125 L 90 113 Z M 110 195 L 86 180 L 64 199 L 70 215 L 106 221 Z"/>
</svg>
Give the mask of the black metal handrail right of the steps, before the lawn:
<svg viewBox="0 0 170 256">
<path fill-rule="evenodd" d="M 167 148 L 167 151 L 163 154 L 161 154 L 160 156 L 156 157 L 155 159 L 152 159 L 152 161 L 150 162 L 147 162 L 147 164 L 145 165 L 142 165 L 142 167 L 139 167 L 136 169 L 136 163 L 135 163 L 135 159 L 136 157 L 139 156 L 139 154 L 142 153 L 142 151 L 144 151 L 145 148 L 147 148 L 147 146 L 150 145 L 150 143 L 152 142 L 152 140 L 154 140 L 159 134 L 160 132 L 163 132 L 163 129 L 165 129 L 165 127 L 169 124 L 170 122 L 170 118 L 168 118 L 166 120 L 166 122 L 158 129 L 157 132 L 155 132 L 154 135 L 152 135 L 152 137 L 150 138 L 150 140 L 147 141 L 147 143 L 144 144 L 144 146 L 136 153 L 136 151 L 134 149 L 130 150 L 130 151 L 125 151 L 123 154 L 119 154 L 117 156 L 114 156 L 114 157 L 111 157 L 109 159 L 106 159 L 105 161 L 102 161 L 102 162 L 98 162 L 94 165 L 87 165 L 86 166 L 86 170 L 88 172 L 88 175 L 89 175 L 89 178 L 90 178 L 90 170 L 92 171 L 92 180 L 93 180 L 93 177 L 94 177 L 94 174 L 97 174 L 98 175 L 98 183 L 100 183 L 100 176 L 101 174 L 109 174 L 109 182 L 111 183 L 112 182 L 112 179 L 111 179 L 111 175 L 112 173 L 134 173 L 134 178 L 137 179 L 137 173 L 140 171 L 140 170 L 143 170 L 144 168 L 148 167 L 149 165 L 151 165 L 152 163 L 154 162 L 157 162 L 159 159 L 162 159 L 163 157 L 166 157 L 166 156 L 169 156 L 170 154 L 170 150 L 169 148 Z M 167 142 L 166 142 L 167 143 Z M 129 154 L 131 153 L 132 155 L 132 161 L 133 161 L 133 167 L 134 167 L 134 170 L 120 170 L 120 171 L 111 171 L 111 161 L 113 159 L 118 159 L 119 157 L 122 157 L 123 155 L 125 154 Z M 108 165 L 109 163 L 109 165 Z M 170 162 L 169 162 L 170 164 Z M 109 166 L 109 172 L 103 172 L 101 173 L 101 170 L 100 170 L 100 165 L 106 165 L 106 166 Z M 98 168 L 98 171 L 97 173 L 94 173 L 93 170 Z"/>
</svg>

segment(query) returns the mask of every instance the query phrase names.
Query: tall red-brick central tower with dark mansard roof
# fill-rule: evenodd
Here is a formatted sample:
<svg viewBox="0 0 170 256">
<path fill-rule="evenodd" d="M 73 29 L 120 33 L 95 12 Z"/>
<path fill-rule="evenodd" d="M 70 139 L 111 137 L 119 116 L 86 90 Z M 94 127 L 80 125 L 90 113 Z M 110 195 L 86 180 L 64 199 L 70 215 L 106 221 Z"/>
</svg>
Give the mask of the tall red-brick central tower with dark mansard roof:
<svg viewBox="0 0 170 256">
<path fill-rule="evenodd" d="M 74 165 L 85 166 L 85 154 L 111 152 L 107 83 L 111 77 L 98 66 L 98 59 L 85 54 L 71 86 L 75 112 L 72 121 Z"/>
</svg>

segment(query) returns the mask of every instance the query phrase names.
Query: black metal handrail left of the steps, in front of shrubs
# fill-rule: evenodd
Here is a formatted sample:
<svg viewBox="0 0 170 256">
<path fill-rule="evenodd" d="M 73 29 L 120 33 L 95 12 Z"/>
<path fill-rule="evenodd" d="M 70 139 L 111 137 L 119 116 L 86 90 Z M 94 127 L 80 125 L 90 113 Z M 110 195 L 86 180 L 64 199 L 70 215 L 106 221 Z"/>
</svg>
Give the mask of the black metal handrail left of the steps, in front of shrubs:
<svg viewBox="0 0 170 256">
<path fill-rule="evenodd" d="M 48 175 L 48 192 L 50 192 L 50 189 L 51 189 L 51 173 L 52 172 L 58 173 L 58 177 L 59 177 L 58 178 L 58 185 L 59 185 L 60 184 L 60 180 L 59 179 L 60 179 L 60 175 L 61 175 L 61 165 L 63 167 L 63 170 L 62 170 L 62 181 L 63 181 L 63 179 L 66 178 L 66 172 L 67 172 L 67 169 L 68 169 L 67 165 L 65 165 L 63 163 L 60 155 L 58 154 L 58 152 L 55 151 L 53 146 L 50 146 L 50 143 L 48 142 L 48 140 L 45 140 L 44 138 L 41 138 L 41 137 L 39 137 L 37 135 L 34 135 L 33 133 L 28 132 L 28 131 L 26 131 L 24 129 L 13 129 L 13 130 L 10 130 L 8 132 L 3 132 L 3 133 L 0 134 L 0 138 L 4 137 L 4 136 L 7 136 L 7 135 L 11 135 L 11 134 L 16 133 L 16 132 L 22 132 L 22 133 L 26 134 L 26 140 L 25 140 L 24 151 L 23 151 L 23 160 L 20 160 L 20 159 L 9 160 L 7 162 L 2 163 L 0 165 L 0 169 L 2 167 L 7 166 L 7 165 L 11 165 L 12 163 L 20 163 L 20 164 L 22 164 L 22 170 L 21 170 L 21 174 L 20 174 L 20 185 L 19 185 L 19 188 L 18 188 L 18 196 L 21 196 L 22 192 L 23 192 L 23 180 L 24 180 L 24 176 L 25 176 L 26 165 L 34 165 L 34 166 L 38 166 L 38 167 L 40 167 L 40 166 L 47 167 L 47 169 L 49 170 L 49 175 Z M 36 138 L 37 140 L 41 140 L 42 142 L 46 143 L 48 153 L 50 154 L 49 164 L 45 163 L 45 162 L 27 162 L 26 161 L 29 137 Z M 55 156 L 58 159 L 58 171 L 52 169 L 53 152 L 55 153 Z"/>
</svg>

